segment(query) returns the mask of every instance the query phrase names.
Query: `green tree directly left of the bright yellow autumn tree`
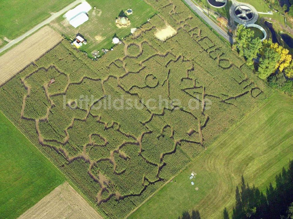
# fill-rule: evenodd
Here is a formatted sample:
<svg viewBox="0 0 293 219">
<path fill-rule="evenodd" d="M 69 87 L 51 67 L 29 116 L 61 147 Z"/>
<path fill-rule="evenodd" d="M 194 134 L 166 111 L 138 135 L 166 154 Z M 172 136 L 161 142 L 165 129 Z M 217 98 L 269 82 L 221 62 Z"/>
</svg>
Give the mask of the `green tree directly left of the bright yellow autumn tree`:
<svg viewBox="0 0 293 219">
<path fill-rule="evenodd" d="M 274 73 L 281 55 L 270 47 L 264 47 L 261 55 L 258 66 L 258 77 L 266 79 Z"/>
</svg>

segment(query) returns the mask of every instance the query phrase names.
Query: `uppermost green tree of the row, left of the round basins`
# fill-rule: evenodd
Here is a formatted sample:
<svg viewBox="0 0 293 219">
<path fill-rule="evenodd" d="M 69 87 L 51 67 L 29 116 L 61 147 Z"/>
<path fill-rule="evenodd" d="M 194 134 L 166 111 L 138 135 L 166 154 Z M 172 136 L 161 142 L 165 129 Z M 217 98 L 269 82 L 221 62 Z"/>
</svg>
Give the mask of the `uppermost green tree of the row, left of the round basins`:
<svg viewBox="0 0 293 219">
<path fill-rule="evenodd" d="M 239 51 L 239 55 L 243 56 L 244 50 L 248 48 L 248 45 L 251 43 L 254 37 L 254 31 L 239 25 L 236 32 L 235 45 Z"/>
</svg>

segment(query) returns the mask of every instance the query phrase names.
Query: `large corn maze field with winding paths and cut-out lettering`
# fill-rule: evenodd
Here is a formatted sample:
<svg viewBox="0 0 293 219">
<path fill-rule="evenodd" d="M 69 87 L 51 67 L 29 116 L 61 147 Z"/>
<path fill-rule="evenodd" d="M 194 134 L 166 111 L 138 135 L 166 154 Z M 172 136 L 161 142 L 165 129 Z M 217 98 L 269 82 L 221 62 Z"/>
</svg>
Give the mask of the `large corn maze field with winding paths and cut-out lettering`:
<svg viewBox="0 0 293 219">
<path fill-rule="evenodd" d="M 1 111 L 107 218 L 125 218 L 270 93 L 183 2 L 147 2 L 159 14 L 99 60 L 63 40 L 0 87 Z M 166 25 L 176 34 L 162 42 Z M 109 96 L 141 108 L 97 107 Z M 142 101 L 158 96 L 171 103 Z"/>
</svg>

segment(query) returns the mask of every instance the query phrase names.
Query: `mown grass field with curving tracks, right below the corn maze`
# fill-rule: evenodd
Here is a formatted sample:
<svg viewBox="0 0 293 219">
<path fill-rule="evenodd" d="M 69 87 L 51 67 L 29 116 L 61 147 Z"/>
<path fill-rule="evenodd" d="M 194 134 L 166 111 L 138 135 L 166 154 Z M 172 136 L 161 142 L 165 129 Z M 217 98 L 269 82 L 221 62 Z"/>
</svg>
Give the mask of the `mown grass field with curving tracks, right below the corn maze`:
<svg viewBox="0 0 293 219">
<path fill-rule="evenodd" d="M 220 219 L 223 208 L 234 204 L 242 174 L 265 192 L 293 158 L 292 102 L 282 94 L 272 96 L 129 218 L 175 219 L 183 210 L 195 209 L 202 218 Z M 197 173 L 194 186 L 188 178 L 191 171 Z"/>
</svg>

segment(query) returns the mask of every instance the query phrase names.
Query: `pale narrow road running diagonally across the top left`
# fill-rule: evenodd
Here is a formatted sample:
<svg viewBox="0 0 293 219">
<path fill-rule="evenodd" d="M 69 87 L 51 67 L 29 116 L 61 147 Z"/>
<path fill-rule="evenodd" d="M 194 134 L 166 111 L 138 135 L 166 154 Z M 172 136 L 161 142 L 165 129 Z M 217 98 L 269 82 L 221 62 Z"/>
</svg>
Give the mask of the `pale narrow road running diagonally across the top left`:
<svg viewBox="0 0 293 219">
<path fill-rule="evenodd" d="M 74 2 L 72 2 L 71 4 L 67 5 L 65 8 L 63 8 L 62 10 L 54 13 L 50 18 L 47 18 L 46 20 L 44 20 L 42 23 L 39 23 L 37 26 L 33 27 L 32 29 L 30 29 L 28 32 L 26 32 L 25 34 L 21 35 L 20 37 L 17 37 L 16 39 L 13 39 L 11 42 L 9 42 L 8 44 L 6 44 L 5 46 L 3 46 L 0 49 L 0 53 L 5 51 L 6 49 L 10 48 L 11 46 L 13 46 L 14 44 L 20 42 L 21 40 L 23 40 L 25 37 L 31 35 L 33 32 L 35 32 L 36 30 L 40 29 L 41 27 L 45 26 L 46 24 L 50 23 L 52 20 L 54 20 L 55 18 L 59 17 L 60 15 L 62 15 L 63 13 L 65 13 L 66 11 L 68 11 L 70 8 L 74 7 L 76 4 L 83 2 L 84 0 L 76 0 Z"/>
</svg>

